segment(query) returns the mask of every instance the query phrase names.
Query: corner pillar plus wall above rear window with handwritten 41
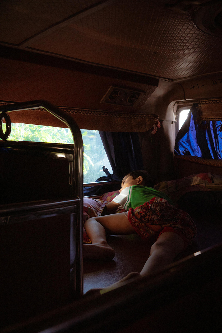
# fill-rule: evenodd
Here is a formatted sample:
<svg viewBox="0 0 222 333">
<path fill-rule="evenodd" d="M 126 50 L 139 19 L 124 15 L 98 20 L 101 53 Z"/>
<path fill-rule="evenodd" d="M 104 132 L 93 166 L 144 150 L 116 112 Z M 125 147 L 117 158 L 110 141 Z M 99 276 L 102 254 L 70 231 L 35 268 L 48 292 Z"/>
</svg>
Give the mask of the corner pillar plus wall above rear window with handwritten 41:
<svg viewBox="0 0 222 333">
<path fill-rule="evenodd" d="M 221 88 L 221 72 L 174 82 L 159 80 L 158 88 L 141 110 L 158 114 L 161 127 L 154 135 L 151 135 L 150 132 L 140 134 L 144 168 L 154 177 L 155 183 L 174 178 L 176 102 L 194 103 L 201 99 L 221 98 Z"/>
</svg>

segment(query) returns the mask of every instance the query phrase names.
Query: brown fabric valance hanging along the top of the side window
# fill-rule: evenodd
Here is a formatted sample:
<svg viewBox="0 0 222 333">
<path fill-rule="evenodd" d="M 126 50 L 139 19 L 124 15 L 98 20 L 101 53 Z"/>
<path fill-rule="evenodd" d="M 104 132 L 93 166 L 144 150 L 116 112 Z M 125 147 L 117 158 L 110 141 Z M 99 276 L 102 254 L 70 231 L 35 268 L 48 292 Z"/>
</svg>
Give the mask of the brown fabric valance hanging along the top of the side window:
<svg viewBox="0 0 222 333">
<path fill-rule="evenodd" d="M 12 103 L 0 102 L 0 105 Z M 59 107 L 64 113 L 70 114 L 79 128 L 107 132 L 146 132 L 159 127 L 158 115 L 107 112 L 90 109 Z M 19 110 L 10 112 L 12 123 L 45 125 L 54 127 L 67 126 L 45 109 Z"/>
</svg>

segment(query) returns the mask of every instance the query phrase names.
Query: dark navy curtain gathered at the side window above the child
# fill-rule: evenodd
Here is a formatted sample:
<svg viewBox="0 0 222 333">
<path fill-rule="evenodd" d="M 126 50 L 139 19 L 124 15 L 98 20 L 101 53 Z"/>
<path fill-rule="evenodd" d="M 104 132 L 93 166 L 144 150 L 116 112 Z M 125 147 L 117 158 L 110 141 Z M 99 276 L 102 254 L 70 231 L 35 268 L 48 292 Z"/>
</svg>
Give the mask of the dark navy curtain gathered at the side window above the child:
<svg viewBox="0 0 222 333">
<path fill-rule="evenodd" d="M 138 133 L 99 131 L 104 149 L 107 153 L 113 174 L 103 176 L 95 181 L 116 180 L 118 184 L 101 185 L 84 188 L 84 195 L 97 195 L 121 187 L 122 178 L 131 171 L 143 170 L 142 152 Z"/>
</svg>

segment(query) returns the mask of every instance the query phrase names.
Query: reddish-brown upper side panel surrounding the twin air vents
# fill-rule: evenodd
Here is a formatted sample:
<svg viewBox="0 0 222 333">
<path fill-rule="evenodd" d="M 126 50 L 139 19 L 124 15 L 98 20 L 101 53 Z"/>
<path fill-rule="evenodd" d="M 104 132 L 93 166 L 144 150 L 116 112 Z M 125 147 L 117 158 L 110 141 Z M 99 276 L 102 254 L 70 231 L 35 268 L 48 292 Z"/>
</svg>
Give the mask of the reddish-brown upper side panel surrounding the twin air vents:
<svg viewBox="0 0 222 333">
<path fill-rule="evenodd" d="M 120 75 L 124 77 L 124 73 Z M 146 94 L 133 108 L 101 104 L 111 85 L 142 90 Z M 144 83 L 0 58 L 0 100 L 4 101 L 44 99 L 64 107 L 138 113 L 155 89 Z"/>
</svg>

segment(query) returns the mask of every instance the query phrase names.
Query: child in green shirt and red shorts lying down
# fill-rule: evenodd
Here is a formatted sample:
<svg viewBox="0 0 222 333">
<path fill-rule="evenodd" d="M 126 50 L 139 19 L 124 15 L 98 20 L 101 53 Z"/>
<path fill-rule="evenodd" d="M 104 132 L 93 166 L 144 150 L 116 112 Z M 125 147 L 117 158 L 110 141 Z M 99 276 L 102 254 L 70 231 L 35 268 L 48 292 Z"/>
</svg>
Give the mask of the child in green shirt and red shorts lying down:
<svg viewBox="0 0 222 333">
<path fill-rule="evenodd" d="M 174 257 L 191 244 L 197 232 L 188 213 L 175 208 L 166 194 L 152 186 L 153 181 L 145 170 L 130 172 L 122 179 L 120 193 L 107 203 L 102 216 L 92 217 L 84 224 L 92 241 L 92 244 L 84 244 L 84 258 L 112 259 L 115 256 L 107 243 L 107 233 L 138 233 L 144 240 L 152 239 L 150 255 L 141 272 L 132 272 L 123 281 L 172 263 Z M 123 208 L 125 212 L 114 213 Z"/>
</svg>

